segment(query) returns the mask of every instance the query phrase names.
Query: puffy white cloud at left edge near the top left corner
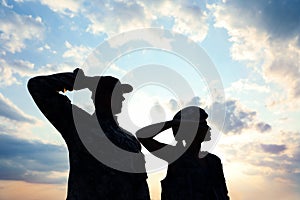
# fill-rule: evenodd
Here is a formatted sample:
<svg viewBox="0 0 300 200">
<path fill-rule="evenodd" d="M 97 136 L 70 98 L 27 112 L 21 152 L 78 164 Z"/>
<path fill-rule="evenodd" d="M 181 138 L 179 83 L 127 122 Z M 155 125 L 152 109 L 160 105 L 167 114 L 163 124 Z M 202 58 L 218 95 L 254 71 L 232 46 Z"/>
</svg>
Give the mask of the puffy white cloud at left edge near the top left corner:
<svg viewBox="0 0 300 200">
<path fill-rule="evenodd" d="M 26 47 L 27 40 L 41 40 L 44 25 L 40 17 L 19 15 L 9 8 L 0 8 L 1 52 L 20 52 Z"/>
</svg>

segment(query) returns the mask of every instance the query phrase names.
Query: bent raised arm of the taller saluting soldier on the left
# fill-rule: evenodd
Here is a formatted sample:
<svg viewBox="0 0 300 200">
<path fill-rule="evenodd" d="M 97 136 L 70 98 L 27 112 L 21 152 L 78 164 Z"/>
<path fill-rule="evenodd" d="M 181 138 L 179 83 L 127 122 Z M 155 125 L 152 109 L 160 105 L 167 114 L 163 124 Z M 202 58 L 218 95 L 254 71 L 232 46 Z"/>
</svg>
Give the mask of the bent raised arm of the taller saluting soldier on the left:
<svg viewBox="0 0 300 200">
<path fill-rule="evenodd" d="M 66 139 L 73 127 L 72 104 L 59 92 L 72 91 L 78 69 L 74 72 L 37 76 L 28 81 L 28 90 L 45 117 Z"/>
</svg>

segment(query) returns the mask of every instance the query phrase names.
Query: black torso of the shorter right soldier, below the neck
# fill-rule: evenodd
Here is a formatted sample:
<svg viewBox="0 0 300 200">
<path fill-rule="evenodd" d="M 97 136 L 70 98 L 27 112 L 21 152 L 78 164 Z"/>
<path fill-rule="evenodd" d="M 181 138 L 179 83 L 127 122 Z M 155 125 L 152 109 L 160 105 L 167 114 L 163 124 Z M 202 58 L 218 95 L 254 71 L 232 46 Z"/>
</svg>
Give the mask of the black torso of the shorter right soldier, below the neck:
<svg viewBox="0 0 300 200">
<path fill-rule="evenodd" d="M 203 158 L 185 153 L 169 164 L 161 185 L 162 200 L 229 199 L 221 160 L 210 153 Z"/>
</svg>

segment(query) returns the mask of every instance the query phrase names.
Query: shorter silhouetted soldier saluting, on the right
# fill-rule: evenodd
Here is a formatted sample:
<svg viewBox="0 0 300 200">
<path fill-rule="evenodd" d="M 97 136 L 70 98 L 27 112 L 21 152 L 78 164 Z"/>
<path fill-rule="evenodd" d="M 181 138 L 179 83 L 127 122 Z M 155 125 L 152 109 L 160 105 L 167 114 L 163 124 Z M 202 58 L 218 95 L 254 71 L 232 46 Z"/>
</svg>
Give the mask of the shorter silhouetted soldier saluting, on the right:
<svg viewBox="0 0 300 200">
<path fill-rule="evenodd" d="M 137 131 L 140 142 L 157 157 L 169 163 L 167 176 L 161 181 L 162 200 L 228 200 L 221 160 L 214 154 L 201 152 L 201 143 L 211 138 L 207 113 L 195 106 L 182 109 L 173 120 L 149 125 Z M 153 139 L 172 128 L 176 146 Z M 191 137 L 195 131 L 196 136 Z M 185 145 L 184 145 L 185 142 Z M 159 151 L 165 147 L 164 151 Z M 175 154 L 184 152 L 177 160 Z"/>
</svg>

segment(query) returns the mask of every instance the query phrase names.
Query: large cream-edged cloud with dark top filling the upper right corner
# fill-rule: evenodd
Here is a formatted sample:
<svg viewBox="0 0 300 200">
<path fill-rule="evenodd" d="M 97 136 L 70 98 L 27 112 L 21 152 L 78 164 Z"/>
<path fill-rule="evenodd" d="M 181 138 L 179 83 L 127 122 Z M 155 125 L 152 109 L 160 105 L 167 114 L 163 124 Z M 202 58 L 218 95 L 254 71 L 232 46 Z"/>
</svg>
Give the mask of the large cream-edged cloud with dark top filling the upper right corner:
<svg viewBox="0 0 300 200">
<path fill-rule="evenodd" d="M 246 62 L 267 83 L 281 87 L 284 92 L 275 101 L 296 105 L 300 97 L 299 1 L 230 0 L 209 8 L 215 26 L 227 30 L 231 57 Z"/>
</svg>

